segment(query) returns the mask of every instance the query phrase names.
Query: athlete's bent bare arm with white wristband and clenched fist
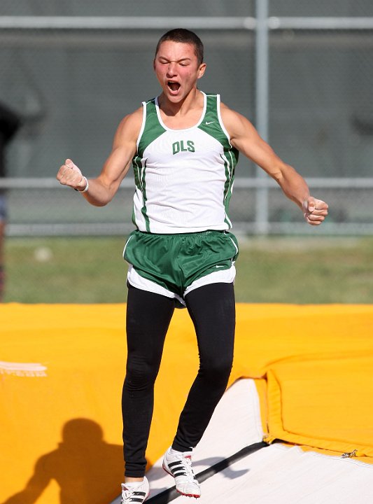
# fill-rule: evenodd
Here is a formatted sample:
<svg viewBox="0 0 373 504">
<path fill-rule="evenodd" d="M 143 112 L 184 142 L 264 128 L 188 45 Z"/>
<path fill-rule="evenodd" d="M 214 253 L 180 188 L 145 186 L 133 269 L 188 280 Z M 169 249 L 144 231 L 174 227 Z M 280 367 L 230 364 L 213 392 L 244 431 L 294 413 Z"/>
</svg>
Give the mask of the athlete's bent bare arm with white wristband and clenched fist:
<svg viewBox="0 0 373 504">
<path fill-rule="evenodd" d="M 96 179 L 90 179 L 88 190 L 82 193 L 87 202 L 95 207 L 104 207 L 111 202 L 125 178 L 136 153 L 136 140 L 139 137 L 141 120 L 142 109 L 138 109 L 121 121 L 115 133 L 113 149 L 101 174 Z M 80 191 L 87 185 L 80 169 L 69 159 L 59 168 L 57 180 L 64 186 Z"/>
</svg>

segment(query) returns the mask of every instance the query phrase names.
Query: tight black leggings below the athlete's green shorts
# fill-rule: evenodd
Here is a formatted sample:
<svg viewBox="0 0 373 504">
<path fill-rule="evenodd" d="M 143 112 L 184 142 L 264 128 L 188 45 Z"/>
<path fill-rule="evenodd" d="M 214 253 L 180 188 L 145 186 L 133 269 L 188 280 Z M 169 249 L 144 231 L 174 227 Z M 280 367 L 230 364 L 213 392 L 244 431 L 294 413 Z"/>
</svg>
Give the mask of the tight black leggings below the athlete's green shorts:
<svg viewBox="0 0 373 504">
<path fill-rule="evenodd" d="M 234 345 L 233 285 L 212 283 L 199 287 L 186 295 L 185 303 L 197 334 L 199 371 L 172 443 L 179 451 L 189 451 L 199 442 L 227 386 Z M 145 473 L 154 382 L 174 307 L 175 302 L 169 297 L 129 287 L 127 372 L 122 393 L 127 477 L 142 477 Z"/>
</svg>

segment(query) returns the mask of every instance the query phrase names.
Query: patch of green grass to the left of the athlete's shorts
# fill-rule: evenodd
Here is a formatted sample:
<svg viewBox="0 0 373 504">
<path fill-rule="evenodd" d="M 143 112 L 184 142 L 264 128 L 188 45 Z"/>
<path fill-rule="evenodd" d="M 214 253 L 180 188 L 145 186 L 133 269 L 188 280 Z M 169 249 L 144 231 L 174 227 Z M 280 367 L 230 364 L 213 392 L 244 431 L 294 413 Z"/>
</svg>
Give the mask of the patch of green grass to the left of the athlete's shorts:
<svg viewBox="0 0 373 504">
<path fill-rule="evenodd" d="M 122 238 L 6 241 L 6 302 L 124 302 Z"/>
</svg>

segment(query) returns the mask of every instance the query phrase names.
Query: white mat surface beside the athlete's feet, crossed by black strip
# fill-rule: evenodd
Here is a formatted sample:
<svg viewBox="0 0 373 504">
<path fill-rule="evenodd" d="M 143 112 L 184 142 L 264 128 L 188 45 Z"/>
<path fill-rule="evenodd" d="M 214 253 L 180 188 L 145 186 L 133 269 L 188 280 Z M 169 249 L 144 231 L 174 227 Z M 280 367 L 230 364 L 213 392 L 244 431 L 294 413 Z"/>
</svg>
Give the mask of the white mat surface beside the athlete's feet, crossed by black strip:
<svg viewBox="0 0 373 504">
<path fill-rule="evenodd" d="M 260 442 L 262 435 L 255 384 L 251 379 L 241 379 L 223 396 L 194 451 L 195 473 Z M 174 486 L 174 479 L 162 470 L 162 458 L 149 470 L 147 477 L 150 497 Z M 206 479 L 202 483 L 202 496 L 197 501 L 179 496 L 172 502 L 368 504 L 373 503 L 373 465 L 273 444 Z M 120 498 L 114 503 L 120 503 Z"/>
</svg>

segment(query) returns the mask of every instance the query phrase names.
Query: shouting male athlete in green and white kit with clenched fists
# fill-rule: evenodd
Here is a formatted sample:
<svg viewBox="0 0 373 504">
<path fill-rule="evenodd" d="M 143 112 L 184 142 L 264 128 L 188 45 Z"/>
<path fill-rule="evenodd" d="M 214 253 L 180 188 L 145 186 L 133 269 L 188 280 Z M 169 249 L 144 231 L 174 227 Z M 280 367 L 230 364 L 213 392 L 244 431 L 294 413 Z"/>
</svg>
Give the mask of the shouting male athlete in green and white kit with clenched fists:
<svg viewBox="0 0 373 504">
<path fill-rule="evenodd" d="M 71 160 L 57 174 L 90 204 L 103 206 L 130 165 L 134 169 L 136 230 L 123 254 L 129 263 L 124 504 L 143 503 L 149 494 L 144 474 L 153 386 L 176 304 L 187 307 L 195 325 L 200 366 L 163 467 L 180 493 L 201 495 L 192 449 L 225 391 L 233 358 L 238 247 L 227 211 L 239 152 L 279 183 L 307 223 L 319 225 L 328 214 L 328 205 L 309 194 L 302 176 L 246 118 L 221 104 L 219 95 L 197 89 L 205 69 L 197 35 L 185 29 L 164 34 L 154 59 L 162 92 L 122 120 L 101 174 L 87 181 Z"/>
</svg>

